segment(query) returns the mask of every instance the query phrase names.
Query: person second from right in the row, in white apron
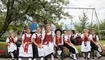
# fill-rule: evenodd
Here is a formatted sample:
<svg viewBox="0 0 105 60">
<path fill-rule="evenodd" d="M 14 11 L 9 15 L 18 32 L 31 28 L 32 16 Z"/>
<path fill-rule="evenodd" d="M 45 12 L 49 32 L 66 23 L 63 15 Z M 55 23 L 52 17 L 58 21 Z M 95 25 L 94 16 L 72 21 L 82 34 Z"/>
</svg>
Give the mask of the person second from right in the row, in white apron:
<svg viewBox="0 0 105 60">
<path fill-rule="evenodd" d="M 81 44 L 81 51 L 83 53 L 84 59 L 90 59 L 90 51 L 91 51 L 91 46 L 90 46 L 90 35 L 88 34 L 89 30 L 84 29 L 83 34 L 81 35 L 81 38 L 83 39 L 82 44 Z"/>
</svg>

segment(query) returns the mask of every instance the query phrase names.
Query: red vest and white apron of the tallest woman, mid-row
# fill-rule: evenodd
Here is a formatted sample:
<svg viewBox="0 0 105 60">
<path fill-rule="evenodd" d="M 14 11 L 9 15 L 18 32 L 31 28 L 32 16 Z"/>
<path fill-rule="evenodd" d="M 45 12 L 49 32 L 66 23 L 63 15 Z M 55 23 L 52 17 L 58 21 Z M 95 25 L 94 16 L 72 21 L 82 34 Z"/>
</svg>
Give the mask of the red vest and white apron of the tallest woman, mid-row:
<svg viewBox="0 0 105 60">
<path fill-rule="evenodd" d="M 45 46 L 45 55 L 49 55 L 54 52 L 54 32 L 50 31 L 47 33 L 46 31 L 43 33 L 43 44 Z"/>
</svg>

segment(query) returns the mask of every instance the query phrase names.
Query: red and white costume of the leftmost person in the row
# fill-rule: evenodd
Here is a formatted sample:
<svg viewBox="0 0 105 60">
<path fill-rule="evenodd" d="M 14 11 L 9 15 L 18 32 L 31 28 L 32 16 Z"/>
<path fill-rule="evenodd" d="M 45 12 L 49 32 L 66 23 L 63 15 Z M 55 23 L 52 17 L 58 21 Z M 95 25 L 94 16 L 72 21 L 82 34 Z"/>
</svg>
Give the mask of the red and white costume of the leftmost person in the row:
<svg viewBox="0 0 105 60">
<path fill-rule="evenodd" d="M 17 37 L 14 38 L 15 40 L 17 40 Z M 10 44 L 10 46 L 8 46 L 8 52 L 12 53 L 15 50 L 17 50 L 17 46 L 14 42 L 14 39 L 12 37 L 8 37 L 6 39 L 6 42 Z"/>
</svg>

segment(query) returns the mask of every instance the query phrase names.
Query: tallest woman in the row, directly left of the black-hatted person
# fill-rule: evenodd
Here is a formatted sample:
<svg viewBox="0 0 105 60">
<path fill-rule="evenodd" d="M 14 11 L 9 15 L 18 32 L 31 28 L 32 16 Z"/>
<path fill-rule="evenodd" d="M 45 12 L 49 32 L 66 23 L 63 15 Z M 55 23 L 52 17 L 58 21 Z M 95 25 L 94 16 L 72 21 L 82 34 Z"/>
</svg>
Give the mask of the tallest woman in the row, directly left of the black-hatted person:
<svg viewBox="0 0 105 60">
<path fill-rule="evenodd" d="M 43 45 L 46 45 L 45 51 L 45 59 L 47 60 L 47 55 L 51 54 L 51 60 L 54 60 L 53 52 L 54 52 L 54 32 L 51 31 L 51 26 L 47 24 L 46 30 L 42 33 Z"/>
</svg>

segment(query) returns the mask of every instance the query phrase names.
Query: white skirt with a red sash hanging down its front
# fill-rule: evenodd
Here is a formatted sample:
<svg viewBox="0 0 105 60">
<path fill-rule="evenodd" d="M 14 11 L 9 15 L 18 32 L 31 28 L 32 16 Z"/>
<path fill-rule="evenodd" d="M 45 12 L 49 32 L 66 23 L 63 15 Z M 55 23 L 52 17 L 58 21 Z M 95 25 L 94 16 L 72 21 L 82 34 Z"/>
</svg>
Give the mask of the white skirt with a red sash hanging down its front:
<svg viewBox="0 0 105 60">
<path fill-rule="evenodd" d="M 25 44 L 24 44 L 25 46 Z M 28 52 L 24 52 L 24 48 L 23 46 L 21 45 L 20 48 L 19 48 L 19 57 L 33 57 L 33 50 L 32 50 L 32 44 L 29 44 L 28 45 Z"/>
</svg>

